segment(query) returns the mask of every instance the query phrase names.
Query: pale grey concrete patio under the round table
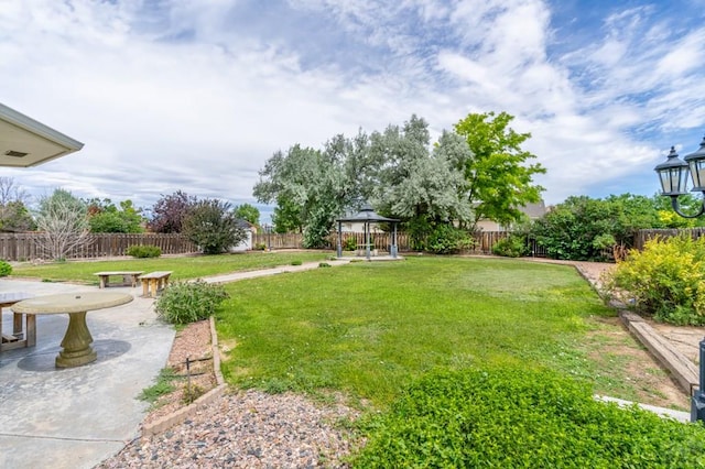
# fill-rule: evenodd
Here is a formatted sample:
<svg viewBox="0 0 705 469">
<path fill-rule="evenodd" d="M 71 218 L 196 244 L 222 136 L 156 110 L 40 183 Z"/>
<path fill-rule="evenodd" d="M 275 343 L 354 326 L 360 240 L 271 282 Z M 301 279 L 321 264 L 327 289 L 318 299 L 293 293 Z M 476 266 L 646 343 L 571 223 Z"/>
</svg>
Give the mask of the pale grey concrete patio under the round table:
<svg viewBox="0 0 705 469">
<path fill-rule="evenodd" d="M 34 295 L 94 286 L 0 281 L 0 293 Z M 97 361 L 56 369 L 67 315 L 36 317 L 36 347 L 0 353 L 0 467 L 93 468 L 140 434 L 148 404 L 138 400 L 165 366 L 174 329 L 156 319 L 141 290 L 115 287 L 134 301 L 89 312 Z M 3 330 L 12 327 L 6 310 Z"/>
</svg>

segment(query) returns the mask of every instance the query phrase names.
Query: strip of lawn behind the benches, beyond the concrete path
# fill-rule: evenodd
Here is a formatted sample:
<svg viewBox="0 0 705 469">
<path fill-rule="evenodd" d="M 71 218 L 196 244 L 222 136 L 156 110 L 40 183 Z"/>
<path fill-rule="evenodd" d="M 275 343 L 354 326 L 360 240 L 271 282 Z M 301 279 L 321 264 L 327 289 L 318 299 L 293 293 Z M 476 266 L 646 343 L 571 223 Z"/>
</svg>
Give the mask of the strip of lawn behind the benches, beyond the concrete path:
<svg viewBox="0 0 705 469">
<path fill-rule="evenodd" d="M 101 271 L 172 271 L 171 279 L 191 280 L 238 271 L 290 265 L 294 261 L 318 262 L 328 259 L 332 251 L 248 252 L 245 254 L 162 257 L 110 261 L 68 261 L 41 265 L 20 264 L 14 276 L 37 277 L 47 282 L 79 281 L 98 284 L 94 275 Z"/>
</svg>

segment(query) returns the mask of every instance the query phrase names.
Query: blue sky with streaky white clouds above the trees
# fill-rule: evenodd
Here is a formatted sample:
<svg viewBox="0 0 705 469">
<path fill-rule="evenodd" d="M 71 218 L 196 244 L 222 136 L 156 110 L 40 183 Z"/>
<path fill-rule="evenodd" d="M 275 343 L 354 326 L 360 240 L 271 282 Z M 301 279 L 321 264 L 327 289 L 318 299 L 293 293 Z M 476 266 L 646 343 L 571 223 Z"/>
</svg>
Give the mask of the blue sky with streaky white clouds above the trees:
<svg viewBox="0 0 705 469">
<path fill-rule="evenodd" d="M 84 150 L 33 195 L 254 203 L 258 171 L 412 113 L 507 111 L 570 195 L 653 195 L 705 133 L 704 0 L 0 0 L 0 102 Z M 268 208 L 261 207 L 263 218 Z"/>
</svg>

